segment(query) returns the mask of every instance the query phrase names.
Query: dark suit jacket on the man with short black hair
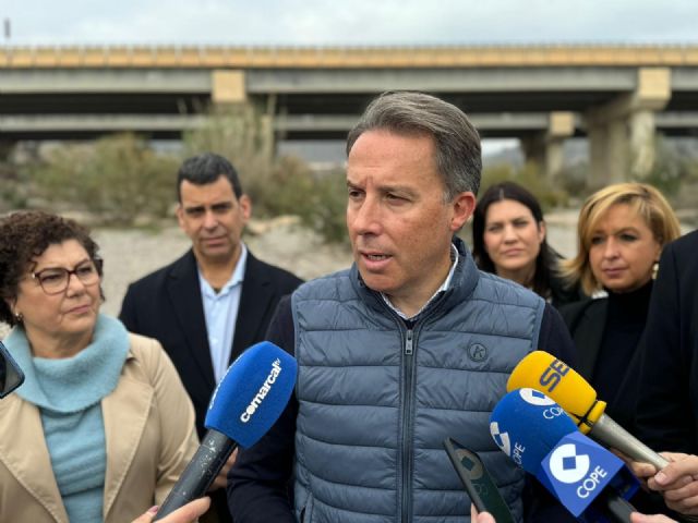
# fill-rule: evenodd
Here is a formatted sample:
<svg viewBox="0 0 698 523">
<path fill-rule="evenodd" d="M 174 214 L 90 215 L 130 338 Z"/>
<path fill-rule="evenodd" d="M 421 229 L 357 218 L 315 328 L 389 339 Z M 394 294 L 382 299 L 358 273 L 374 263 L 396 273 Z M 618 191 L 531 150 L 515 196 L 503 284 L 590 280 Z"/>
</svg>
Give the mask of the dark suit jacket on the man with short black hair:
<svg viewBox="0 0 698 523">
<path fill-rule="evenodd" d="M 302 282 L 248 252 L 231 362 L 262 341 L 281 296 Z M 119 318 L 131 332 L 157 339 L 182 378 L 196 411 L 198 436 L 216 386 L 194 253 L 129 285 Z M 231 318 L 233 320 L 233 318 Z"/>
</svg>

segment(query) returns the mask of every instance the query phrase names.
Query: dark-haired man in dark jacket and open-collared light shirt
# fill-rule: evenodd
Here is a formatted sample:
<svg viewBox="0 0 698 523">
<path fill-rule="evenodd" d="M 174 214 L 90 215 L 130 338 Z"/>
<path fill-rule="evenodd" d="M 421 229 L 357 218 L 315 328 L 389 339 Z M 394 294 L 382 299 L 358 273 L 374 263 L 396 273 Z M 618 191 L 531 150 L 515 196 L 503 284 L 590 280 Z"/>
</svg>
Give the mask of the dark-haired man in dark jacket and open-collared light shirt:
<svg viewBox="0 0 698 523">
<path fill-rule="evenodd" d="M 213 154 L 185 160 L 177 187 L 177 217 L 192 248 L 132 283 L 120 318 L 131 332 L 163 344 L 194 403 L 202 437 L 216 384 L 244 349 L 264 339 L 280 297 L 301 280 L 258 260 L 241 241 L 252 203 L 228 160 Z M 214 483 L 212 511 L 220 521 L 230 521 L 220 488 L 228 470 Z"/>
</svg>

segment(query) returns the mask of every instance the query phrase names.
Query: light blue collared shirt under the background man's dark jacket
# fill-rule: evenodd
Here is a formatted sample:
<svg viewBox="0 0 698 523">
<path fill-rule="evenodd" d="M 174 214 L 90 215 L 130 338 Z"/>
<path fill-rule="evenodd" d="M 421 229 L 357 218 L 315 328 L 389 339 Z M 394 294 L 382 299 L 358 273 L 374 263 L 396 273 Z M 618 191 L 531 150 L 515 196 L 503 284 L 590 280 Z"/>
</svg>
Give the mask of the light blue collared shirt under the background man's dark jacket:
<svg viewBox="0 0 698 523">
<path fill-rule="evenodd" d="M 226 374 L 230 365 L 232 340 L 236 336 L 236 321 L 240 308 L 240 293 L 244 268 L 248 263 L 248 248 L 241 243 L 240 259 L 236 265 L 228 282 L 216 293 L 198 270 L 198 283 L 206 318 L 206 332 L 208 335 L 208 348 L 210 362 L 214 366 L 216 384 Z"/>
</svg>

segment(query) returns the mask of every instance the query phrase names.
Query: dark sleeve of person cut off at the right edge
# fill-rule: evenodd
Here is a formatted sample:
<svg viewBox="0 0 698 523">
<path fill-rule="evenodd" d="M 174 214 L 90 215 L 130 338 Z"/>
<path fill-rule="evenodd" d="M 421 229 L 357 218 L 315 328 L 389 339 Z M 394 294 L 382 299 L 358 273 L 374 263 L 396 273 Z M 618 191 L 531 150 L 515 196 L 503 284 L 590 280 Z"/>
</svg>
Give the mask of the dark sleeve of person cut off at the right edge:
<svg viewBox="0 0 698 523">
<path fill-rule="evenodd" d="M 698 454 L 698 231 L 662 252 L 640 352 L 638 436 Z"/>
</svg>

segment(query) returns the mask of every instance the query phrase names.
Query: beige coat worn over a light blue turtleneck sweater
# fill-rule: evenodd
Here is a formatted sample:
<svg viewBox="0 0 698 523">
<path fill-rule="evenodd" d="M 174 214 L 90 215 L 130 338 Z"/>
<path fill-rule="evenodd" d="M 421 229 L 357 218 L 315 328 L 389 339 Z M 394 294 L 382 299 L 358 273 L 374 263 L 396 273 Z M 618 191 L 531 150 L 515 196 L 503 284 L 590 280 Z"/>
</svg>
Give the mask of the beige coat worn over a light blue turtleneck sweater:
<svg viewBox="0 0 698 523">
<path fill-rule="evenodd" d="M 198 447 L 194 409 L 160 344 L 130 335 L 117 388 L 101 400 L 107 441 L 105 522 L 164 501 Z M 70 393 L 69 390 L 65 393 Z M 0 400 L 0 522 L 68 523 L 36 406 Z"/>
</svg>

